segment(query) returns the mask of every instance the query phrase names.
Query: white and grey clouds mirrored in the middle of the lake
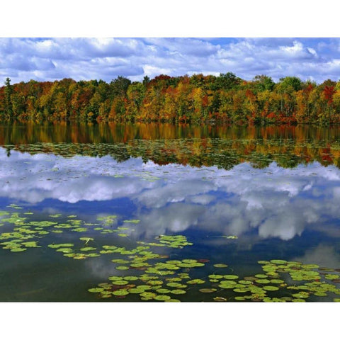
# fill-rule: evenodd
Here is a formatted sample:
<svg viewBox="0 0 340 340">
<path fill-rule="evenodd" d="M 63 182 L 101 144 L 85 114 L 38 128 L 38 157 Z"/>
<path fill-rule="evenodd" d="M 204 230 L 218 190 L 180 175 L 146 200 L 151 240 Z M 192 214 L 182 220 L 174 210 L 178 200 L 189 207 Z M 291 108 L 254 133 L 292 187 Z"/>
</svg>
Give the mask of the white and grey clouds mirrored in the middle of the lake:
<svg viewBox="0 0 340 340">
<path fill-rule="evenodd" d="M 195 227 L 238 236 L 257 230 L 260 239 L 289 240 L 307 227 L 319 229 L 320 223 L 340 218 L 340 171 L 318 163 L 295 169 L 275 163 L 253 169 L 243 163 L 227 171 L 142 159 L 118 163 L 109 156 L 13 151 L 7 157 L 4 149 L 0 161 L 1 197 L 30 205 L 47 198 L 64 203 L 129 198 L 141 220 L 137 229 L 145 234 Z"/>
</svg>

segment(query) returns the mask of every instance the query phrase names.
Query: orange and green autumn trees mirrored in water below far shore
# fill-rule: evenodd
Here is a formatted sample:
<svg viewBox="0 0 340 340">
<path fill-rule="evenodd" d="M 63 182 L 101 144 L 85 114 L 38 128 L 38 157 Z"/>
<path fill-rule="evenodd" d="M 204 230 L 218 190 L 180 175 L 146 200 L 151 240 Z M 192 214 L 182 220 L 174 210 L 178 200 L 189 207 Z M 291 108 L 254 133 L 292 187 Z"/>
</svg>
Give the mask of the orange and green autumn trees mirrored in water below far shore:
<svg viewBox="0 0 340 340">
<path fill-rule="evenodd" d="M 250 162 L 263 169 L 272 162 L 283 168 L 317 161 L 340 165 L 340 128 L 239 127 L 229 125 L 76 124 L 0 125 L 0 144 L 22 152 L 64 157 L 111 155 L 118 162 L 218 166 L 232 169 Z"/>
</svg>

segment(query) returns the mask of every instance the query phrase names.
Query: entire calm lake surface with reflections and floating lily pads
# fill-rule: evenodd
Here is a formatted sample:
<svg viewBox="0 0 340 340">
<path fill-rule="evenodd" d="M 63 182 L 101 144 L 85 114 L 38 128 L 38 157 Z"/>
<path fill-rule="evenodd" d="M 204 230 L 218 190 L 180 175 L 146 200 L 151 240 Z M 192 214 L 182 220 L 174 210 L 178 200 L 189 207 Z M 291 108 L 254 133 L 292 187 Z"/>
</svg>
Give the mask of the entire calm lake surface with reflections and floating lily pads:
<svg viewBox="0 0 340 340">
<path fill-rule="evenodd" d="M 1 301 L 340 297 L 339 128 L 17 124 L 0 144 Z"/>
</svg>

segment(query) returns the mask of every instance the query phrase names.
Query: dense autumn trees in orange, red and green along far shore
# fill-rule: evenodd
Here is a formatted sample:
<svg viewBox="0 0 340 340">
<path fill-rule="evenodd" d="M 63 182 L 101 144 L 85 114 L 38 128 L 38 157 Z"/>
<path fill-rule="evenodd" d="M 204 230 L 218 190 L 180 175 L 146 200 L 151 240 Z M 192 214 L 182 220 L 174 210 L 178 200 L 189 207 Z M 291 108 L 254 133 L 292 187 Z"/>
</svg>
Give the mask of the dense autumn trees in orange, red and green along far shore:
<svg viewBox="0 0 340 340">
<path fill-rule="evenodd" d="M 232 72 L 130 81 L 34 81 L 0 88 L 0 120 L 289 124 L 340 123 L 340 81 Z"/>
</svg>

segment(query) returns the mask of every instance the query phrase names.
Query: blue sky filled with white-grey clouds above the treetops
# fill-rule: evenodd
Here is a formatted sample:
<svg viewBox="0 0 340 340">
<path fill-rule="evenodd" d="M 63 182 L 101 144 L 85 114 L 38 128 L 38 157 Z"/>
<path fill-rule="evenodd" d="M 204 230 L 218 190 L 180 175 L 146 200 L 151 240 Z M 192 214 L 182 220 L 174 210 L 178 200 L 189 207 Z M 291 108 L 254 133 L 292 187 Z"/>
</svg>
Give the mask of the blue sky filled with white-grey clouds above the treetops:
<svg viewBox="0 0 340 340">
<path fill-rule="evenodd" d="M 339 38 L 0 38 L 0 80 L 53 81 L 158 74 L 266 74 L 340 79 Z"/>
</svg>

